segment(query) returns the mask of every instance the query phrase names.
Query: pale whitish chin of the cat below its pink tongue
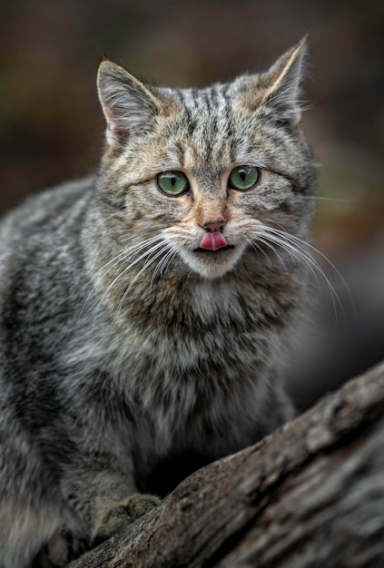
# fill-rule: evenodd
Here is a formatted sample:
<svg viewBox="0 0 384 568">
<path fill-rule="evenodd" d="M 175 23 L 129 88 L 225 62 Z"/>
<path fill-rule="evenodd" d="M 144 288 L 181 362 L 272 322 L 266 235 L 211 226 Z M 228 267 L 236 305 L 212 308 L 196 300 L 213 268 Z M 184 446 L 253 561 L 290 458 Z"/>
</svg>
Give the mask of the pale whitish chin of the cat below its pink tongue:
<svg viewBox="0 0 384 568">
<path fill-rule="evenodd" d="M 205 279 L 221 278 L 226 272 L 230 272 L 240 260 L 245 245 L 239 244 L 231 250 L 192 251 L 182 250 L 182 260 L 190 269 L 197 272 Z"/>
</svg>

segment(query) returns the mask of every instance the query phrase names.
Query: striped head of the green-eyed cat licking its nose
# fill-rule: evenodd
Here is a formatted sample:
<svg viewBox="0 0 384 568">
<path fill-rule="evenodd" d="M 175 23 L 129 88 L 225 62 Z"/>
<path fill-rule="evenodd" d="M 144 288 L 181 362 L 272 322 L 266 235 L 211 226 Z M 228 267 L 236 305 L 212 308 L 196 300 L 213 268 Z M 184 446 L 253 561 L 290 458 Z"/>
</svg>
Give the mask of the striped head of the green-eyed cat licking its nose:
<svg viewBox="0 0 384 568">
<path fill-rule="evenodd" d="M 112 62 L 100 65 L 107 122 L 100 191 L 124 211 L 122 230 L 152 247 L 153 263 L 177 258 L 186 271 L 216 279 L 273 231 L 307 226 L 305 51 L 304 39 L 269 71 L 204 89 L 150 86 Z"/>
</svg>

